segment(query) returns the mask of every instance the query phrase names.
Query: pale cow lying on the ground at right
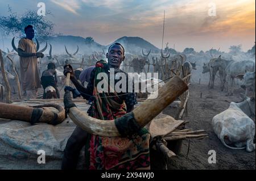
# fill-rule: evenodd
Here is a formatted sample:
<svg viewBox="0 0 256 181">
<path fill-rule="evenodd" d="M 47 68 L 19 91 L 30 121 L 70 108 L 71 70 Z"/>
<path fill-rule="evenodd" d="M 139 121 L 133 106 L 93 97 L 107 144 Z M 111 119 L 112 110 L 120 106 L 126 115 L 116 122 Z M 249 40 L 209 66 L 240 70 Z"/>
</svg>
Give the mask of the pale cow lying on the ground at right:
<svg viewBox="0 0 256 181">
<path fill-rule="evenodd" d="M 246 97 L 241 103 L 231 102 L 227 110 L 213 117 L 214 133 L 229 149 L 254 151 L 255 123 L 250 116 L 255 116 L 255 98 Z"/>
</svg>

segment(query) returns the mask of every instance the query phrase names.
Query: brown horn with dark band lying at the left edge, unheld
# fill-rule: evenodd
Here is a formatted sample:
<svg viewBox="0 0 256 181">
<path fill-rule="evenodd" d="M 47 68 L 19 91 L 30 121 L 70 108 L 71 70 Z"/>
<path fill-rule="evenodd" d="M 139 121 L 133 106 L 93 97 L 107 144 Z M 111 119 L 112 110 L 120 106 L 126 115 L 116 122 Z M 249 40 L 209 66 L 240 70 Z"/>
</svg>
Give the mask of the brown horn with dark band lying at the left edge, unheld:
<svg viewBox="0 0 256 181">
<path fill-rule="evenodd" d="M 55 113 L 44 107 L 54 107 L 59 112 Z M 48 123 L 56 125 L 64 121 L 65 110 L 59 104 L 44 104 L 34 107 L 26 107 L 15 104 L 0 103 L 0 117 L 26 121 L 31 124 Z"/>
</svg>

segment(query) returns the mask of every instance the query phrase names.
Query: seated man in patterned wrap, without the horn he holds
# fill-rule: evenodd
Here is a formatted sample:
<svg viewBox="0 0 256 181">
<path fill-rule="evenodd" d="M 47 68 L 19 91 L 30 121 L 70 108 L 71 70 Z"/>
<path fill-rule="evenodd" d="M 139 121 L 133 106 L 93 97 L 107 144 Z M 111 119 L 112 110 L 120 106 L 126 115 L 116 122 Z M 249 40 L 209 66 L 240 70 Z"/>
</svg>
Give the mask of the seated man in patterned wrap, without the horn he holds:
<svg viewBox="0 0 256 181">
<path fill-rule="evenodd" d="M 109 77 L 109 70 L 113 68 L 115 73 L 125 73 L 120 70 L 120 65 L 125 60 L 125 49 L 119 43 L 110 45 L 106 58 L 108 63 L 101 60 L 90 72 L 90 79 L 87 87 L 83 87 L 75 77 L 72 66 L 64 67 L 64 75 L 70 73 L 70 78 L 81 95 L 89 100 L 94 97 L 92 105 L 88 110 L 91 117 L 101 120 L 113 120 L 131 112 L 136 103 L 135 92 L 98 92 L 97 75 L 106 73 Z M 128 76 L 126 74 L 128 80 Z M 115 83 L 119 79 L 115 79 Z M 126 81 L 128 83 L 128 81 Z M 110 89 L 110 85 L 108 84 Z M 126 87 L 127 88 L 127 87 Z M 66 87 L 65 87 L 66 89 Z M 66 111 L 69 107 L 70 92 L 65 90 L 64 104 Z M 66 105 L 68 104 L 68 105 Z M 74 106 L 73 104 L 70 104 Z M 149 139 L 150 134 L 142 128 L 133 137 L 102 137 L 89 134 L 80 127 L 76 127 L 67 141 L 64 150 L 61 169 L 76 169 L 80 150 L 85 146 L 85 167 L 86 169 L 108 170 L 108 169 L 149 169 Z"/>
</svg>

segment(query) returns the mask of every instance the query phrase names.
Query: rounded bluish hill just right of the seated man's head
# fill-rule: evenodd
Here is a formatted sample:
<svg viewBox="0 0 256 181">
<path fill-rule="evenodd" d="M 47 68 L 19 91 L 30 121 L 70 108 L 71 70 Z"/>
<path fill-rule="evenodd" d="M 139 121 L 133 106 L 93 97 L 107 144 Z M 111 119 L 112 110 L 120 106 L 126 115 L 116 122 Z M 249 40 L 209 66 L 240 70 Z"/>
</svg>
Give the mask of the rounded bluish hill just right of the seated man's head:
<svg viewBox="0 0 256 181">
<path fill-rule="evenodd" d="M 141 37 L 123 36 L 115 40 L 113 43 L 115 42 L 121 43 L 125 47 L 125 51 L 129 53 L 141 53 L 142 49 L 145 49 L 144 53 L 146 53 L 147 50 L 150 50 L 150 49 L 151 49 L 151 52 L 155 52 L 155 53 L 160 51 L 160 49 L 156 48 L 153 44 L 142 39 Z"/>
</svg>

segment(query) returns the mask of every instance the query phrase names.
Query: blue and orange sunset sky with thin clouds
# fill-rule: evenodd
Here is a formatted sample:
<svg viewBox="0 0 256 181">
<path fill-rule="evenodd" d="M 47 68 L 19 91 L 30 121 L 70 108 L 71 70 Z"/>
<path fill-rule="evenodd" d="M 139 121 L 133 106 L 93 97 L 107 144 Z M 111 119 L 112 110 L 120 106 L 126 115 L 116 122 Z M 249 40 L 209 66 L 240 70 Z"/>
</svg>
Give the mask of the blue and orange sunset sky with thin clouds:
<svg viewBox="0 0 256 181">
<path fill-rule="evenodd" d="M 46 18 L 55 23 L 56 33 L 92 36 L 102 45 L 122 36 L 139 36 L 161 48 L 164 10 L 164 43 L 175 44 L 176 50 L 220 47 L 227 52 L 230 45 L 242 44 L 246 51 L 255 41 L 255 0 L 0 0 L 0 15 L 8 15 L 7 5 L 18 14 L 37 11 L 39 2 L 52 12 Z M 216 5 L 216 16 L 208 15 L 209 3 Z"/>
</svg>

